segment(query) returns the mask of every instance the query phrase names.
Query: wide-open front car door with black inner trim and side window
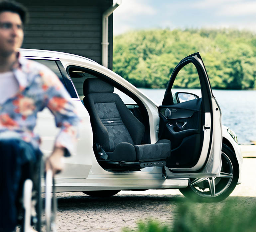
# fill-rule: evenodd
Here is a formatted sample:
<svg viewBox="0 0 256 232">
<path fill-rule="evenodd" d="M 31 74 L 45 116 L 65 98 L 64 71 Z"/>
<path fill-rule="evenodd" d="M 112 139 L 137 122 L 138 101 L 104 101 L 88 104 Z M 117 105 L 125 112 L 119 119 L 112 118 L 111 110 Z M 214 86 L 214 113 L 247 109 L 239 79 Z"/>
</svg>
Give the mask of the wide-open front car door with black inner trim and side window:
<svg viewBox="0 0 256 232">
<path fill-rule="evenodd" d="M 168 178 L 219 175 L 221 111 L 199 53 L 184 58 L 174 69 L 159 106 L 159 117 L 159 139 L 172 143 L 165 167 Z"/>
</svg>

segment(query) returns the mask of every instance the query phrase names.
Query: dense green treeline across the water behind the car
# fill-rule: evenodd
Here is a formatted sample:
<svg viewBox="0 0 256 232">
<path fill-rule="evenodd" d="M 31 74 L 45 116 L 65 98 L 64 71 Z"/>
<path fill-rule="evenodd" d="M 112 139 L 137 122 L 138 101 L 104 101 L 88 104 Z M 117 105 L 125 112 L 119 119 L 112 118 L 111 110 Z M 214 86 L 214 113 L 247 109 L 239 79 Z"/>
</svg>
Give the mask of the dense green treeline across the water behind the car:
<svg viewBox="0 0 256 232">
<path fill-rule="evenodd" d="M 165 88 L 175 66 L 199 51 L 212 88 L 256 89 L 256 35 L 228 29 L 154 29 L 114 37 L 113 71 L 136 87 Z M 198 87 L 185 68 L 176 87 Z"/>
</svg>

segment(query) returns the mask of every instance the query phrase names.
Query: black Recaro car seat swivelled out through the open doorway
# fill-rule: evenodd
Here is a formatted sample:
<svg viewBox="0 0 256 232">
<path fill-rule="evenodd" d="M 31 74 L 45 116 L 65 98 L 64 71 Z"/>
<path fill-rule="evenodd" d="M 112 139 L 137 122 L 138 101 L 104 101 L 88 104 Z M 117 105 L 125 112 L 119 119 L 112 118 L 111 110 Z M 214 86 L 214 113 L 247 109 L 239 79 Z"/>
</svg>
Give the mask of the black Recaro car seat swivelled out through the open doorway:
<svg viewBox="0 0 256 232">
<path fill-rule="evenodd" d="M 101 158 L 104 163 L 119 166 L 165 165 L 162 161 L 170 157 L 171 142 L 140 145 L 145 127 L 113 91 L 112 85 L 98 78 L 83 83 L 83 102 L 90 115 L 96 153 L 101 149 L 99 153 L 106 154 Z"/>
</svg>

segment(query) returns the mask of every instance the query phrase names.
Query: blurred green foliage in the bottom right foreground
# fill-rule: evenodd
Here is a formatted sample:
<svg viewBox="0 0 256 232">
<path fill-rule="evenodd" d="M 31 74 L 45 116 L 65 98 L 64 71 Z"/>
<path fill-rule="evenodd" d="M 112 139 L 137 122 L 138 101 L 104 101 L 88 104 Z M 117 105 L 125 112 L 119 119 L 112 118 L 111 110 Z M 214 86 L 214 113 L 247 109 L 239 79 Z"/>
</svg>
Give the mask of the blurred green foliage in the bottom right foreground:
<svg viewBox="0 0 256 232">
<path fill-rule="evenodd" d="M 214 204 L 214 205 L 213 205 Z M 123 232 L 255 232 L 255 202 L 242 205 L 238 200 L 221 203 L 191 203 L 178 205 L 174 224 L 149 219 L 140 221 L 137 228 Z"/>
</svg>

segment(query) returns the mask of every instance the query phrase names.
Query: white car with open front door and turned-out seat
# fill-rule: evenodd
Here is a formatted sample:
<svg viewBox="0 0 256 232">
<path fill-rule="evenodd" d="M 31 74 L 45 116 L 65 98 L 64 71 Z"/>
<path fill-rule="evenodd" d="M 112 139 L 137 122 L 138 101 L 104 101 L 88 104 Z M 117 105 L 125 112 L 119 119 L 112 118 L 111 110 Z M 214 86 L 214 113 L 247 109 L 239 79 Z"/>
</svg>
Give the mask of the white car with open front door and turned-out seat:
<svg viewBox="0 0 256 232">
<path fill-rule="evenodd" d="M 192 200 L 217 202 L 240 183 L 237 138 L 221 125 L 221 110 L 199 53 L 176 66 L 158 105 L 90 59 L 55 51 L 20 52 L 57 74 L 82 119 L 77 152 L 64 158 L 64 170 L 56 175 L 57 192 L 106 197 L 120 190 L 180 189 Z M 198 73 L 200 97 L 172 95 L 177 74 L 187 65 Z M 48 109 L 38 114 L 36 132 L 45 155 L 51 153 L 58 130 Z"/>
</svg>

